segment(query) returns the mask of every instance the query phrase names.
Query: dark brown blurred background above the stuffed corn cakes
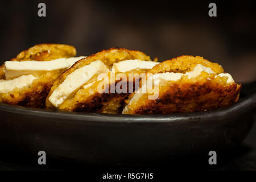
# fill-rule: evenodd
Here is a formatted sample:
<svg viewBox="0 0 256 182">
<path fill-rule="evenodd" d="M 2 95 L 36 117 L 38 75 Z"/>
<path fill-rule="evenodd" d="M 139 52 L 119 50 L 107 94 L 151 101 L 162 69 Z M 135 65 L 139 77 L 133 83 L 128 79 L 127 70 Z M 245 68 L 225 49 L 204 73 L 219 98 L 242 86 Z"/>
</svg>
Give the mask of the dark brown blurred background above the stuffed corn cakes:
<svg viewBox="0 0 256 182">
<path fill-rule="evenodd" d="M 46 17 L 38 4 L 46 3 Z M 217 5 L 217 17 L 208 5 Z M 255 1 L 1 1 L 0 60 L 39 43 L 64 43 L 90 55 L 138 49 L 160 61 L 198 55 L 237 82 L 256 80 Z"/>
</svg>

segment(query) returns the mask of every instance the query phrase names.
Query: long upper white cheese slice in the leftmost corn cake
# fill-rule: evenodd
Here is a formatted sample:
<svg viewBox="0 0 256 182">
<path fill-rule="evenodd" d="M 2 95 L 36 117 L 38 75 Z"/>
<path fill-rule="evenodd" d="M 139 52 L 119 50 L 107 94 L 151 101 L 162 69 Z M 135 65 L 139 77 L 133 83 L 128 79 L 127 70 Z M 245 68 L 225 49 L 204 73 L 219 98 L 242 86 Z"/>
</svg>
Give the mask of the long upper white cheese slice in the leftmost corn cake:
<svg viewBox="0 0 256 182">
<path fill-rule="evenodd" d="M 5 77 L 6 79 L 12 79 L 30 74 L 39 76 L 45 72 L 67 69 L 82 58 L 84 56 L 60 58 L 51 61 L 6 61 Z"/>
</svg>

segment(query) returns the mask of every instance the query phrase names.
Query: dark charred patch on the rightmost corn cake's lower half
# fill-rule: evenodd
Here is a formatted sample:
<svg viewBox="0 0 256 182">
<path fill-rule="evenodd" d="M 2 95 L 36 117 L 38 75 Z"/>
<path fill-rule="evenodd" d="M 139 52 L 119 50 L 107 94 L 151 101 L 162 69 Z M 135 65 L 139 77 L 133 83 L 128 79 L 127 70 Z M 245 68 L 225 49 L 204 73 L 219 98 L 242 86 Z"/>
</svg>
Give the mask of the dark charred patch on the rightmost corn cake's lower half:
<svg viewBox="0 0 256 182">
<path fill-rule="evenodd" d="M 230 85 L 227 88 L 211 87 L 209 84 L 200 86 L 190 85 L 187 90 L 174 86 L 157 100 L 147 102 L 147 105 L 135 109 L 135 114 L 165 114 L 186 113 L 193 111 L 213 110 L 233 104 L 237 101 L 241 85 Z M 200 98 L 207 94 L 214 94 L 207 100 Z M 189 105 L 193 107 L 189 107 Z M 206 106 L 207 105 L 207 106 Z"/>
</svg>

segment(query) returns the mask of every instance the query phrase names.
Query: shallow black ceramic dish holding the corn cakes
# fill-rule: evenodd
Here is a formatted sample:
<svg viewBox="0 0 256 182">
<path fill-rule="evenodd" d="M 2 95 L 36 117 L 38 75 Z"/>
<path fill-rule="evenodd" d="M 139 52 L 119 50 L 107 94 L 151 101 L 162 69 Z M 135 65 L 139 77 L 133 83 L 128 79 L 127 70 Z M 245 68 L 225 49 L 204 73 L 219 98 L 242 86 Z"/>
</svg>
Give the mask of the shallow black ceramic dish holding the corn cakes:
<svg viewBox="0 0 256 182">
<path fill-rule="evenodd" d="M 253 126 L 256 82 L 223 109 L 186 114 L 63 113 L 0 105 L 1 150 L 84 163 L 132 163 L 242 142 Z"/>
</svg>

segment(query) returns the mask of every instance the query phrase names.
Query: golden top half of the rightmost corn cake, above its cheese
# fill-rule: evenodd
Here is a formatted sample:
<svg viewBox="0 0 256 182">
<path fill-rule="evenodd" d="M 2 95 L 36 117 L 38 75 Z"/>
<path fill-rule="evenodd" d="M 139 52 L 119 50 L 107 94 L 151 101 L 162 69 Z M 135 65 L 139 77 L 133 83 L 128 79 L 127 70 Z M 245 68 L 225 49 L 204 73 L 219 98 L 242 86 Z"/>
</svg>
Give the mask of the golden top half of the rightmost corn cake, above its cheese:
<svg viewBox="0 0 256 182">
<path fill-rule="evenodd" d="M 223 73 L 224 69 L 217 63 L 212 63 L 200 56 L 179 56 L 171 60 L 163 61 L 162 63 L 155 65 L 154 68 L 148 70 L 147 73 L 185 73 L 191 71 L 197 64 L 201 64 L 205 67 L 212 69 L 216 74 Z"/>
</svg>

